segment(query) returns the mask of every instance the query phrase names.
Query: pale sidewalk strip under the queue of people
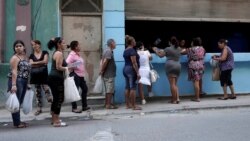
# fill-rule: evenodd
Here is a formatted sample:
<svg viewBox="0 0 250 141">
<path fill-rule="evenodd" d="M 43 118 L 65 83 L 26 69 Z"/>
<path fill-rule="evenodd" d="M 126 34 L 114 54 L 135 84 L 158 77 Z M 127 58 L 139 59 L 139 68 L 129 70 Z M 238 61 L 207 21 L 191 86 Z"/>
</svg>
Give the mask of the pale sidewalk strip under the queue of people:
<svg viewBox="0 0 250 141">
<path fill-rule="evenodd" d="M 75 114 L 71 112 L 71 106 L 66 105 L 62 107 L 61 117 L 62 118 L 78 118 L 78 117 L 92 117 L 92 118 L 102 118 L 107 116 L 132 116 L 132 115 L 145 115 L 157 112 L 174 113 L 178 111 L 185 110 L 202 110 L 202 109 L 223 109 L 223 108 L 240 108 L 240 107 L 250 107 L 250 95 L 238 95 L 236 100 L 218 100 L 218 96 L 206 96 L 201 99 L 201 102 L 192 102 L 190 97 L 183 97 L 180 104 L 170 104 L 168 103 L 169 98 L 151 98 L 147 100 L 146 105 L 140 105 L 143 110 L 133 111 L 131 109 L 126 109 L 125 105 L 118 105 L 119 108 L 115 110 L 107 110 L 103 108 L 93 107 L 92 110 L 88 112 L 82 112 L 81 114 Z M 79 106 L 80 107 L 80 106 Z M 35 112 L 35 107 L 33 108 L 33 113 Z M 22 113 L 22 112 L 21 112 Z M 39 116 L 34 116 L 33 113 L 28 115 L 21 115 L 23 121 L 29 120 L 44 120 L 50 118 L 49 106 L 43 109 L 43 113 Z M 6 109 L 0 109 L 0 123 L 11 122 L 11 115 Z"/>
</svg>

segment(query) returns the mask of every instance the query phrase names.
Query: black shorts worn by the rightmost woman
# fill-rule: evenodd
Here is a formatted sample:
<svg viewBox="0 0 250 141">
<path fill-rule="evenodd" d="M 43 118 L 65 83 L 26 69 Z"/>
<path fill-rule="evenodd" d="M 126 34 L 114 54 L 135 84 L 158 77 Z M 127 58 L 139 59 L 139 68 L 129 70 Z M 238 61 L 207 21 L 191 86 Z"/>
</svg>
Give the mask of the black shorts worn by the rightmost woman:
<svg viewBox="0 0 250 141">
<path fill-rule="evenodd" d="M 221 71 L 221 74 L 220 74 L 220 84 L 221 84 L 222 87 L 225 84 L 227 86 L 233 85 L 233 82 L 232 82 L 232 71 L 233 71 L 232 69 Z"/>
</svg>

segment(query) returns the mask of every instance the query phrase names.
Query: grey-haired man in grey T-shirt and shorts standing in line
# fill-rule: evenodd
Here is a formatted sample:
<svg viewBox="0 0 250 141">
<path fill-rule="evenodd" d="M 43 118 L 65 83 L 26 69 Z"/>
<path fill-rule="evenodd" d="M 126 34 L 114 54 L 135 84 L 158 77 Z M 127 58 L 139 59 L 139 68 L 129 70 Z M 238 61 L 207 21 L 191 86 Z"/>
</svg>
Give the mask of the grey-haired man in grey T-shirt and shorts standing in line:
<svg viewBox="0 0 250 141">
<path fill-rule="evenodd" d="M 115 92 L 115 77 L 116 77 L 116 64 L 114 59 L 113 50 L 116 47 L 114 39 L 107 41 L 107 48 L 102 54 L 100 75 L 103 76 L 105 93 L 106 93 L 106 109 L 117 109 L 112 103 L 112 99 Z"/>
</svg>

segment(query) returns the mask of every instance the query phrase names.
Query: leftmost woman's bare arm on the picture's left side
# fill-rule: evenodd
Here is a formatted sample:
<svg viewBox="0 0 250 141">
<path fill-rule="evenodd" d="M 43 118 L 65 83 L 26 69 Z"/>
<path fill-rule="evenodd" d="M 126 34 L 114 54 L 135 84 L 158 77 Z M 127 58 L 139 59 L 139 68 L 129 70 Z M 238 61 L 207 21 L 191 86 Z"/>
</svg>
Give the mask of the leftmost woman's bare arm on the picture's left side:
<svg viewBox="0 0 250 141">
<path fill-rule="evenodd" d="M 13 56 L 10 59 L 10 67 L 11 67 L 11 73 L 12 73 L 12 87 L 11 92 L 16 92 L 16 79 L 17 79 L 17 65 L 18 65 L 19 59 L 15 56 Z"/>
</svg>

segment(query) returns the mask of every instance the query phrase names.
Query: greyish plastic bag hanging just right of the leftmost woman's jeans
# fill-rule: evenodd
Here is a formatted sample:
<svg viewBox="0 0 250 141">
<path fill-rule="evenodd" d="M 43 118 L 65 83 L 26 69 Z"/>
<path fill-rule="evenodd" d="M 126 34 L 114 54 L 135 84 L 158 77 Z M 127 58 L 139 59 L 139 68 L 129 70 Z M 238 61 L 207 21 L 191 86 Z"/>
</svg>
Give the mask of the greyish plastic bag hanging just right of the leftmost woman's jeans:
<svg viewBox="0 0 250 141">
<path fill-rule="evenodd" d="M 28 89 L 23 99 L 23 113 L 25 115 L 27 115 L 32 111 L 33 97 L 34 97 L 34 92 L 31 89 Z"/>
</svg>

